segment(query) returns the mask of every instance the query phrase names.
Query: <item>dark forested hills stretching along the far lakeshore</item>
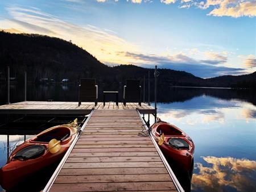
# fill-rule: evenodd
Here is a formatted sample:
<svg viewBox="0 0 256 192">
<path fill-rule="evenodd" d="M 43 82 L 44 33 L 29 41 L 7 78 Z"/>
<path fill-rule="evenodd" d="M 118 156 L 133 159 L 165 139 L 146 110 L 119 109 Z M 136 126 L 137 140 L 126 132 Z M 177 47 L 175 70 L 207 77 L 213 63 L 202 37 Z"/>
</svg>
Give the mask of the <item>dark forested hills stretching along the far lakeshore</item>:
<svg viewBox="0 0 256 192">
<path fill-rule="evenodd" d="M 0 79 L 6 77 L 10 66 L 11 77 L 23 77 L 24 71 L 30 82 L 42 78 L 60 82 L 68 78 L 77 82 L 81 77 L 96 78 L 98 84 L 120 84 L 127 78 L 147 77 L 149 69 L 134 65 L 110 67 L 102 64 L 84 49 L 56 37 L 37 34 L 10 34 L 0 31 Z M 153 77 L 154 69 L 151 70 Z M 191 73 L 171 69 L 159 69 L 159 85 L 162 86 L 231 86 L 238 81 L 251 80 L 256 73 L 247 76 L 224 76 L 204 80 Z M 254 78 L 254 80 L 256 77 Z"/>
</svg>

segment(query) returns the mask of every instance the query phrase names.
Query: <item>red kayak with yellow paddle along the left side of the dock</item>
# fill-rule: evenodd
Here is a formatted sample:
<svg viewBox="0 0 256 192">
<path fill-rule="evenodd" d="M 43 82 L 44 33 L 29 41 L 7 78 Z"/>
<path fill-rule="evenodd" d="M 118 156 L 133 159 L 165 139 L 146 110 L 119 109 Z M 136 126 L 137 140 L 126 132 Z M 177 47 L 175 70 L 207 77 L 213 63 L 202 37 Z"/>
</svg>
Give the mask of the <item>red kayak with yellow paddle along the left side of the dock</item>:
<svg viewBox="0 0 256 192">
<path fill-rule="evenodd" d="M 60 161 L 77 133 L 77 124 L 48 128 L 18 145 L 0 169 L 0 185 L 9 190 L 24 178 Z"/>
</svg>

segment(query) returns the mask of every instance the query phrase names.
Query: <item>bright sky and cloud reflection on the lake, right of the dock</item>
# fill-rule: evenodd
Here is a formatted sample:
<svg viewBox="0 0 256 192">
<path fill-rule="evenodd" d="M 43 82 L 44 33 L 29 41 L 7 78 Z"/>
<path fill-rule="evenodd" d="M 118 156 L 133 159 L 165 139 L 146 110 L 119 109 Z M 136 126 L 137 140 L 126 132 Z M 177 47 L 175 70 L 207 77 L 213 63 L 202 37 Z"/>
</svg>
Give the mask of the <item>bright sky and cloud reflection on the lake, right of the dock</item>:
<svg viewBox="0 0 256 192">
<path fill-rule="evenodd" d="M 255 114 L 250 102 L 209 95 L 158 104 L 158 116 L 195 143 L 192 191 L 256 190 Z"/>
</svg>

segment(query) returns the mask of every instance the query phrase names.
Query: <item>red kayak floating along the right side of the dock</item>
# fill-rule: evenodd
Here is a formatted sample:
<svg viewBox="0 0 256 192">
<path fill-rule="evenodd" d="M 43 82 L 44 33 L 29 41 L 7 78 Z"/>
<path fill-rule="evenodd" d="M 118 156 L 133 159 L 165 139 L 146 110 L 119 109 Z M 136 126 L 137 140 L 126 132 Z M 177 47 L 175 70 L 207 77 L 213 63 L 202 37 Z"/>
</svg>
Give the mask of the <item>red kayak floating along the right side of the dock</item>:
<svg viewBox="0 0 256 192">
<path fill-rule="evenodd" d="M 152 124 L 151 131 L 156 141 L 161 140 L 160 136 L 162 136 L 163 144 L 159 144 L 159 147 L 163 155 L 191 174 L 195 151 L 192 139 L 179 128 L 160 119 Z"/>
</svg>

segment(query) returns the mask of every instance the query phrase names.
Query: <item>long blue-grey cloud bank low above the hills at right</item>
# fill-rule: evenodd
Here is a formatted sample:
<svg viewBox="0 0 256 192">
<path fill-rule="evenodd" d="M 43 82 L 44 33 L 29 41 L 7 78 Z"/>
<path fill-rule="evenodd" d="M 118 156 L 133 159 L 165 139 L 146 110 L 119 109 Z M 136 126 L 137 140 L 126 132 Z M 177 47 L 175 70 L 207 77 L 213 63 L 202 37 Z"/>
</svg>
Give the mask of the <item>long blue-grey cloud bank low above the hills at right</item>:
<svg viewBox="0 0 256 192">
<path fill-rule="evenodd" d="M 126 58 L 130 58 L 132 64 L 141 65 L 143 67 L 153 67 L 158 64 L 160 68 L 185 70 L 199 77 L 216 77 L 226 74 L 243 74 L 245 69 L 242 68 L 228 68 L 226 66 L 216 66 L 214 64 L 221 64 L 223 60 L 210 60 L 212 64 L 207 64 L 204 60 L 196 60 L 184 55 L 184 53 L 177 53 L 171 56 L 159 56 L 155 54 L 146 55 L 143 53 L 133 52 L 118 52 Z M 213 58 L 213 57 L 212 57 Z M 217 59 L 220 59 L 216 56 Z M 208 61 L 209 62 L 209 61 Z"/>
</svg>

